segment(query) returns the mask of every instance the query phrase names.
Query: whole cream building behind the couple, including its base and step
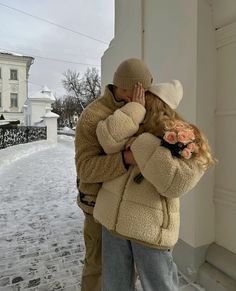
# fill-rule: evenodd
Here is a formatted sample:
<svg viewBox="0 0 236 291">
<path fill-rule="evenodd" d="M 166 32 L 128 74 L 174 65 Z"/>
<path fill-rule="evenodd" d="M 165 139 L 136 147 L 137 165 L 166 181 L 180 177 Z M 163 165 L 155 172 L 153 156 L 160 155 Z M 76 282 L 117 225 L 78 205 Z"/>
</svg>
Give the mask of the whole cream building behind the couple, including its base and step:
<svg viewBox="0 0 236 291">
<path fill-rule="evenodd" d="M 178 267 L 208 291 L 236 290 L 236 1 L 115 1 L 103 89 L 129 57 L 143 59 L 155 82 L 183 83 L 178 111 L 205 132 L 219 160 L 181 198 Z"/>
</svg>

